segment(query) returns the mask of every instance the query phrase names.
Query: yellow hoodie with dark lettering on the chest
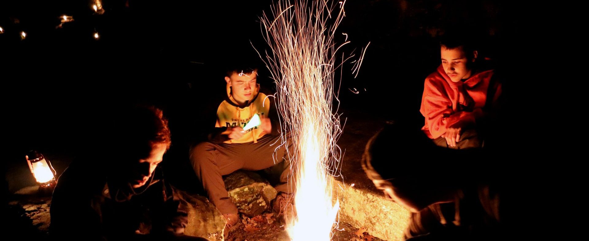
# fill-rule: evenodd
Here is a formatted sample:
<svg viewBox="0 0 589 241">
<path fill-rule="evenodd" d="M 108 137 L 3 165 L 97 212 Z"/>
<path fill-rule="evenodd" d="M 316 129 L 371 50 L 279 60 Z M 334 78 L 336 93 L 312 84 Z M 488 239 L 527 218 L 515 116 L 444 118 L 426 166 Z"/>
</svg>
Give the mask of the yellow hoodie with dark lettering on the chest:
<svg viewBox="0 0 589 241">
<path fill-rule="evenodd" d="M 267 117 L 270 111 L 270 100 L 264 93 L 260 93 L 260 84 L 256 85 L 256 90 L 253 92 L 254 98 L 243 106 L 240 106 L 233 96 L 231 96 L 231 87 L 227 83 L 227 99 L 217 108 L 217 123 L 215 127 L 231 127 L 246 126 L 246 123 L 252 119 L 254 114 L 258 114 L 260 118 Z M 257 142 L 262 136 L 266 135 L 261 128 L 250 129 L 239 139 L 229 139 L 224 143 L 246 143 Z"/>
</svg>

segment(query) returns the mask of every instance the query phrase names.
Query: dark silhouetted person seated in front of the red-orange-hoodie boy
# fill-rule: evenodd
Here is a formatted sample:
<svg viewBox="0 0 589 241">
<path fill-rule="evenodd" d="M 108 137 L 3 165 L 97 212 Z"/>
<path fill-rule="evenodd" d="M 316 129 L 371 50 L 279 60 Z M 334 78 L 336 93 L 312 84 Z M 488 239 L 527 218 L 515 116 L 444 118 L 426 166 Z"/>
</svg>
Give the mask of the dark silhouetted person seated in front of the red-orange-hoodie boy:
<svg viewBox="0 0 589 241">
<path fill-rule="evenodd" d="M 509 233 L 504 183 L 512 182 L 485 150 L 442 148 L 417 128 L 393 124 L 369 140 L 362 168 L 387 199 L 412 212 L 407 240 L 502 240 Z"/>
</svg>

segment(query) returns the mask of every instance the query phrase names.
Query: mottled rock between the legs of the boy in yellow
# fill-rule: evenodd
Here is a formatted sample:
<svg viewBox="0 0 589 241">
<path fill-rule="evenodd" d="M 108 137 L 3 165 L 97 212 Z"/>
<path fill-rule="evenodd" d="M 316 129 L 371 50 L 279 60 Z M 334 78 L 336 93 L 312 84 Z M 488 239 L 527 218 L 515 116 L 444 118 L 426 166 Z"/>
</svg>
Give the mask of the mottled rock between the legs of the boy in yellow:
<svg viewBox="0 0 589 241">
<path fill-rule="evenodd" d="M 237 210 L 249 217 L 269 210 L 277 195 L 276 189 L 254 172 L 237 171 L 226 176 L 224 182 Z"/>
</svg>

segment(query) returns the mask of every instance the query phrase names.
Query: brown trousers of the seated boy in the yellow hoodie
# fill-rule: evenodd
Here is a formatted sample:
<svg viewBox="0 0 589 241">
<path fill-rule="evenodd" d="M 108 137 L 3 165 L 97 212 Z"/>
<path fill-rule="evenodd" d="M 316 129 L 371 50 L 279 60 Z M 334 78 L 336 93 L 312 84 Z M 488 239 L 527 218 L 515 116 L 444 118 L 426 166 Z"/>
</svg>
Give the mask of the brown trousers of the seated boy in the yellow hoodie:
<svg viewBox="0 0 589 241">
<path fill-rule="evenodd" d="M 237 213 L 223 182 L 223 175 L 236 170 L 279 170 L 280 183 L 275 188 L 279 192 L 290 192 L 288 179 L 290 160 L 287 145 L 280 145 L 280 137 L 262 136 L 257 143 L 211 143 L 201 142 L 190 149 L 190 162 L 194 172 L 203 183 L 209 200 L 223 214 Z"/>
</svg>

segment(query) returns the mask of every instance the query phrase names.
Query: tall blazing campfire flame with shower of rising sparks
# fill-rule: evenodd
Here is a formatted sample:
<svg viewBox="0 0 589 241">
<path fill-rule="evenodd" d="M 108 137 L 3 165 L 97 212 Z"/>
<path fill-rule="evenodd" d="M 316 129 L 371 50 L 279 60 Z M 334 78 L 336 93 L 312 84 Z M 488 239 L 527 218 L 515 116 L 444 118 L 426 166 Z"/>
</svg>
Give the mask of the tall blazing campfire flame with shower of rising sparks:
<svg viewBox="0 0 589 241">
<path fill-rule="evenodd" d="M 337 227 L 339 200 L 333 177 L 341 151 L 339 115 L 332 113 L 335 48 L 333 36 L 343 18 L 343 2 L 280 0 L 272 18 L 260 18 L 270 46 L 264 56 L 277 86 L 274 96 L 282 133 L 289 133 L 291 178 L 296 185 L 293 210 L 286 210 L 286 230 L 292 240 L 329 240 Z M 327 26 L 327 19 L 333 22 Z M 260 52 L 258 52 L 260 54 Z M 262 58 L 262 55 L 260 55 Z M 264 58 L 262 58 L 264 59 Z M 337 111 L 336 111 L 337 112 Z M 286 143 L 283 136 L 282 144 Z M 290 213 L 289 213 L 290 212 Z M 335 225 L 335 227 L 334 227 Z"/>
</svg>

